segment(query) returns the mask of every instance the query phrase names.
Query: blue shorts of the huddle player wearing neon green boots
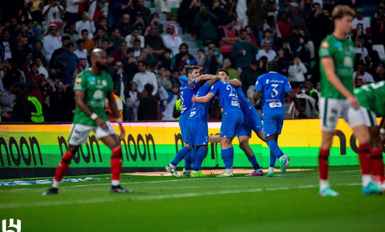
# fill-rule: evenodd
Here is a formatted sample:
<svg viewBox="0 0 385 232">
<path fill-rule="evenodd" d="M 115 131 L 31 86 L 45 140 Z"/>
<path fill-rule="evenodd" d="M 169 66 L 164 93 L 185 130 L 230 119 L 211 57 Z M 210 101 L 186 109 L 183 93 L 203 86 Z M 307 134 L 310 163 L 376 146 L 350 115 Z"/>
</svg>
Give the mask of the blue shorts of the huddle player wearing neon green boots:
<svg viewBox="0 0 385 232">
<path fill-rule="evenodd" d="M 199 118 L 189 120 L 190 145 L 202 146 L 208 144 L 207 121 Z"/>
</svg>

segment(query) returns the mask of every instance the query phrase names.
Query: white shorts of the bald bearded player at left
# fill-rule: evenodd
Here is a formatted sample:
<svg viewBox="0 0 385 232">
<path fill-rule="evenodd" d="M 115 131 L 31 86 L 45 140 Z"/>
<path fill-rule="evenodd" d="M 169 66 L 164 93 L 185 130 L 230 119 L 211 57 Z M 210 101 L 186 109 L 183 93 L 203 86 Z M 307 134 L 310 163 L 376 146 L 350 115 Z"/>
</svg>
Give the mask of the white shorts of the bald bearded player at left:
<svg viewBox="0 0 385 232">
<path fill-rule="evenodd" d="M 88 135 L 91 132 L 91 130 L 95 132 L 96 137 L 98 139 L 101 139 L 109 135 L 116 135 L 116 131 L 111 126 L 111 123 L 109 121 L 106 121 L 106 124 L 108 126 L 107 130 L 102 129 L 102 127 L 100 126 L 73 124 L 68 143 L 73 146 L 80 146 L 82 143 L 85 143 L 87 141 Z"/>
</svg>

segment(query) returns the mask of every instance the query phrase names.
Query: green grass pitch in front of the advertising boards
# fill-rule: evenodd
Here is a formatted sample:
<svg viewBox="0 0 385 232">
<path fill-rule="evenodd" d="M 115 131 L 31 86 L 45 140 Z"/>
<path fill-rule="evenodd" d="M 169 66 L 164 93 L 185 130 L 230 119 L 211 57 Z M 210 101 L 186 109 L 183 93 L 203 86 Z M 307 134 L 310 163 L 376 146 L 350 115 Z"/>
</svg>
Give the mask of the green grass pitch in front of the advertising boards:
<svg viewBox="0 0 385 232">
<path fill-rule="evenodd" d="M 265 173 L 266 174 L 266 173 Z M 331 167 L 339 197 L 318 195 L 317 169 L 273 178 L 176 178 L 122 175 L 132 194 L 110 181 L 0 187 L 0 220 L 23 231 L 383 231 L 385 196 L 364 196 L 358 166 Z M 93 177 L 107 177 L 98 175 Z M 40 178 L 41 179 L 41 178 Z"/>
</svg>

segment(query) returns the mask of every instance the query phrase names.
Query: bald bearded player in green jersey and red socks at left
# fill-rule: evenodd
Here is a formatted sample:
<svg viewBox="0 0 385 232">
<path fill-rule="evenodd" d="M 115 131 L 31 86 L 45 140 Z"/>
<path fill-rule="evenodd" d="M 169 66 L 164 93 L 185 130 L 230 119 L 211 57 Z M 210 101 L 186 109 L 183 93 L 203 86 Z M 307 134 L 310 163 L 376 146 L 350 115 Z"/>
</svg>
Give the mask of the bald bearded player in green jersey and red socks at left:
<svg viewBox="0 0 385 232">
<path fill-rule="evenodd" d="M 93 130 L 98 137 L 112 150 L 111 193 L 132 193 L 131 190 L 123 189 L 120 186 L 120 173 L 122 165 L 122 150 L 117 141 L 116 132 L 107 120 L 105 99 L 108 98 L 112 113 L 119 122 L 120 137 L 124 137 L 125 131 L 121 125 L 119 111 L 113 94 L 113 81 L 109 74 L 103 70 L 107 68 L 107 54 L 104 50 L 96 48 L 91 53 L 91 68 L 79 75 L 75 80 L 75 101 L 76 109 L 72 125 L 69 147 L 64 154 L 59 166 L 56 168 L 55 180 L 47 192 L 43 195 L 57 194 L 60 181 L 69 169 L 69 163 L 77 153 L 82 143 L 87 141 L 88 135 Z"/>
</svg>

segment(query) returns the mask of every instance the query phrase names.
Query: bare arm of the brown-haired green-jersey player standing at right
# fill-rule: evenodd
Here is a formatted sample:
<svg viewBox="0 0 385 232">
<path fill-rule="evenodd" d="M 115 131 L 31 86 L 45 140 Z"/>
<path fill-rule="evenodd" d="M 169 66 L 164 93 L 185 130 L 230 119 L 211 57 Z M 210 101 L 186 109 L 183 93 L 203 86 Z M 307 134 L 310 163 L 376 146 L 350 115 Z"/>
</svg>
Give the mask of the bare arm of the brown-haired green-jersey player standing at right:
<svg viewBox="0 0 385 232">
<path fill-rule="evenodd" d="M 322 66 L 324 67 L 326 78 L 329 82 L 342 94 L 346 97 L 346 100 L 349 102 L 350 106 L 354 109 L 358 109 L 360 104 L 358 100 L 352 93 L 347 90 L 344 84 L 341 82 L 340 78 L 337 77 L 336 71 L 334 68 L 334 62 L 332 57 L 322 57 L 321 58 Z"/>
</svg>

